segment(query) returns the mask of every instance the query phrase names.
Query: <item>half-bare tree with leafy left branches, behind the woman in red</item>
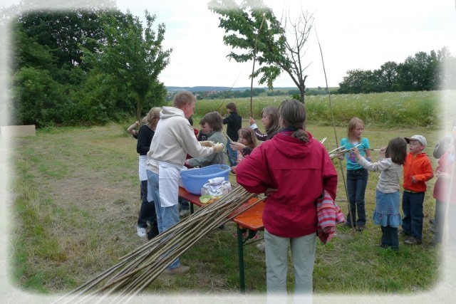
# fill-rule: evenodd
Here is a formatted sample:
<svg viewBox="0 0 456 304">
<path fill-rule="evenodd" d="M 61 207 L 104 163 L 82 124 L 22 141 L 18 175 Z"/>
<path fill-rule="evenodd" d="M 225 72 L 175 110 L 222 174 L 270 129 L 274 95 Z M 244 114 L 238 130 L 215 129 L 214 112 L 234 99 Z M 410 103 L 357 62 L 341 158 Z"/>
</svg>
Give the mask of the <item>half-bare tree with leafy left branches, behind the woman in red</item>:
<svg viewBox="0 0 456 304">
<path fill-rule="evenodd" d="M 252 71 L 251 78 L 261 75 L 259 84 L 266 83 L 269 90 L 273 82 L 285 71 L 300 90 L 304 103 L 305 82 L 303 57 L 313 25 L 313 17 L 302 13 L 296 21 L 284 21 L 284 26 L 261 0 L 212 0 L 209 9 L 219 14 L 219 27 L 224 28 L 224 44 L 239 48 L 245 53 L 232 51 L 227 56 L 237 62 L 258 61 L 260 67 Z M 291 26 L 294 39 L 287 39 L 286 26 Z"/>
</svg>

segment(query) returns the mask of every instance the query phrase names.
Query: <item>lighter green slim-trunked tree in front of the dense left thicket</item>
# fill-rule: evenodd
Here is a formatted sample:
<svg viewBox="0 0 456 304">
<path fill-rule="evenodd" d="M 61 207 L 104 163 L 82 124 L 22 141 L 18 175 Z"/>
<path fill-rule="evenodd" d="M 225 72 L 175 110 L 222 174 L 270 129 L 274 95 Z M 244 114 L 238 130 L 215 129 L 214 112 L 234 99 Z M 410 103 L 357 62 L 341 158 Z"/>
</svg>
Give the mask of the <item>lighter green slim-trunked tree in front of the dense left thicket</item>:
<svg viewBox="0 0 456 304">
<path fill-rule="evenodd" d="M 157 33 L 151 29 L 156 16 L 145 11 L 146 26 L 130 11 L 119 21 L 114 16 L 105 16 L 103 30 L 105 43 L 98 44 L 98 53 L 84 48 L 83 61 L 96 66 L 103 73 L 113 76 L 118 84 L 125 84 L 137 95 L 136 115 L 142 116 L 142 107 L 147 94 L 165 99 L 163 85 L 156 85 L 158 75 L 170 61 L 170 50 L 163 50 L 165 24 L 158 25 Z M 152 92 L 152 88 L 156 90 Z"/>
</svg>

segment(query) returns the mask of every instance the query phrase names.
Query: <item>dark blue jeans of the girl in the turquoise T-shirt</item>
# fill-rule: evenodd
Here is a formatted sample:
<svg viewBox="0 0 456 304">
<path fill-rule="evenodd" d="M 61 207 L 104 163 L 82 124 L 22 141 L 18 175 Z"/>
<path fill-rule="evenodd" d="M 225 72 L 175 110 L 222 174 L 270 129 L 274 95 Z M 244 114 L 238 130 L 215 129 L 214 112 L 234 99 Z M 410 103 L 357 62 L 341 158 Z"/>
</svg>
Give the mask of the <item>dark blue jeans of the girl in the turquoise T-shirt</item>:
<svg viewBox="0 0 456 304">
<path fill-rule="evenodd" d="M 368 185 L 368 170 L 347 170 L 347 191 L 348 201 L 350 202 L 350 210 L 347 214 L 347 224 L 351 225 L 351 217 L 353 216 L 353 226 L 366 225 L 366 203 L 364 196 Z M 356 215 L 358 214 L 358 219 Z"/>
</svg>

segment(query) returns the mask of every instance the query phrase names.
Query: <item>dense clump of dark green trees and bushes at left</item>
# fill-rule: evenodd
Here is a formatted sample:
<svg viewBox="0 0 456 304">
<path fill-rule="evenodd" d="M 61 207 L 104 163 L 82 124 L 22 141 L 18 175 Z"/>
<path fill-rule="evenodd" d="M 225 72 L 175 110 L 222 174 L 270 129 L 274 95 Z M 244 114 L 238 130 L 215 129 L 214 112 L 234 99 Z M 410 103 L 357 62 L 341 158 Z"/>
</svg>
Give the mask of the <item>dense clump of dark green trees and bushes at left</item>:
<svg viewBox="0 0 456 304">
<path fill-rule="evenodd" d="M 38 7 L 39 0 L 0 10 L 1 26 L 9 27 L 12 41 L 11 124 L 46 127 L 133 115 L 139 119 L 165 104 L 167 90 L 158 75 L 172 49 L 162 48 L 165 24 L 152 28 L 155 15 L 146 11 L 143 26 L 129 11 L 90 5 L 30 10 L 33 5 Z"/>
</svg>

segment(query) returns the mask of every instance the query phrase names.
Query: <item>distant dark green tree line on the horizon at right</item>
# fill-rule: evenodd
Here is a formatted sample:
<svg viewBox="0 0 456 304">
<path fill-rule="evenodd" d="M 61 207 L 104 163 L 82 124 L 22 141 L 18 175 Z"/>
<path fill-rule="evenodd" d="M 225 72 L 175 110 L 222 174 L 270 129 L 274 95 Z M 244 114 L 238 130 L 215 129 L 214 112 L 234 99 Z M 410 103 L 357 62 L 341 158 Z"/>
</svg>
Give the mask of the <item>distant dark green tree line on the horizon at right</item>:
<svg viewBox="0 0 456 304">
<path fill-rule="evenodd" d="M 435 52 L 420 51 L 408 56 L 403 63 L 388 61 L 377 70 L 348 70 L 339 83 L 338 93 L 380 93 L 397 91 L 456 89 L 456 58 L 448 48 Z M 451 68 L 452 67 L 452 68 Z"/>
</svg>

